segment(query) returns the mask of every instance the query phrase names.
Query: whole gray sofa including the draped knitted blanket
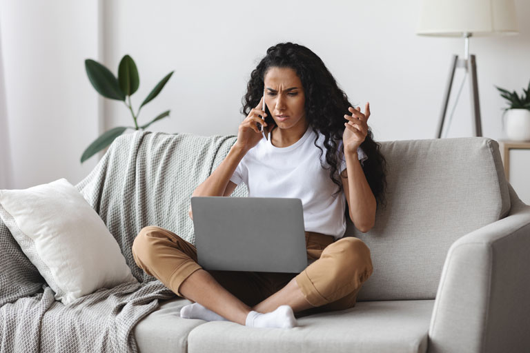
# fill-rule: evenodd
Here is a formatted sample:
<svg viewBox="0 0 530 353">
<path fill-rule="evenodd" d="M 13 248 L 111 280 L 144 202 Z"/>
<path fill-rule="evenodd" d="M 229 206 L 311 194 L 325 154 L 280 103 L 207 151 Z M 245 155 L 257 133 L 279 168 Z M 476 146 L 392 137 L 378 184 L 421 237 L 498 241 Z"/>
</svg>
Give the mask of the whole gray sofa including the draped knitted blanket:
<svg viewBox="0 0 530 353">
<path fill-rule="evenodd" d="M 146 225 L 194 243 L 190 196 L 235 139 L 122 135 L 76 185 L 138 284 L 65 307 L 0 224 L 0 283 L 9 284 L 0 286 L 0 351 L 530 352 L 530 206 L 484 137 L 381 142 L 387 206 L 369 232 L 349 219 L 346 229 L 374 267 L 355 307 L 297 315 L 285 330 L 181 319 L 190 302 L 139 269 L 130 247 Z M 232 196 L 248 196 L 246 186 Z"/>
</svg>

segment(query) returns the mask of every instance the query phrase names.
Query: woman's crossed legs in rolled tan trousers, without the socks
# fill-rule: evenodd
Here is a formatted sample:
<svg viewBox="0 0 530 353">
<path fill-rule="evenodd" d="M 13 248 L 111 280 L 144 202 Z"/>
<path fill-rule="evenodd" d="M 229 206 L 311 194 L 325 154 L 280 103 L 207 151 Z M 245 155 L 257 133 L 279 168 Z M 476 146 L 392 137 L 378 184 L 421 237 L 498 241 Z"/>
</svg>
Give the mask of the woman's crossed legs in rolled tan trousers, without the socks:
<svg viewBox="0 0 530 353">
<path fill-rule="evenodd" d="M 351 307 L 355 305 L 351 294 L 356 296 L 373 270 L 370 251 L 360 239 L 340 239 L 328 245 L 319 260 L 281 290 L 251 307 L 197 264 L 197 250 L 193 245 L 164 228 L 143 228 L 133 243 L 133 256 L 140 268 L 177 295 L 242 325 L 249 312 L 273 312 L 280 305 L 291 306 L 293 312 L 320 306 L 331 310 Z"/>
</svg>

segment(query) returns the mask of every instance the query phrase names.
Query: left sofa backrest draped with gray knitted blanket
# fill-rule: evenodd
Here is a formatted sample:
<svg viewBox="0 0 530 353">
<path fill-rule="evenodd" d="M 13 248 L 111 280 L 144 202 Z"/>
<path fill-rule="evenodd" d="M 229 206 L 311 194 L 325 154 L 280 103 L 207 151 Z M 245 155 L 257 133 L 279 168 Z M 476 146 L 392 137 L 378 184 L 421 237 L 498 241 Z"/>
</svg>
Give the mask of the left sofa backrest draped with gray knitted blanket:
<svg viewBox="0 0 530 353">
<path fill-rule="evenodd" d="M 153 281 L 133 259 L 141 228 L 158 225 L 195 244 L 190 198 L 224 160 L 235 136 L 136 131 L 114 140 L 76 188 L 101 216 L 139 281 Z M 246 196 L 246 190 L 236 195 Z"/>
</svg>

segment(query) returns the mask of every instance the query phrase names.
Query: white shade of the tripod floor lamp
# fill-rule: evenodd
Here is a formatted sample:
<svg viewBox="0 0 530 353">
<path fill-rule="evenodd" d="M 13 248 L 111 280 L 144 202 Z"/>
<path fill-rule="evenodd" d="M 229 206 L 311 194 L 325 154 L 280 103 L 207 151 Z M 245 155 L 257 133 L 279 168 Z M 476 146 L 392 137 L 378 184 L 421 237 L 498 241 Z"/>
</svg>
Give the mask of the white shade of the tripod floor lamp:
<svg viewBox="0 0 530 353">
<path fill-rule="evenodd" d="M 517 34 L 513 0 L 422 0 L 416 34 L 473 37 Z"/>
</svg>

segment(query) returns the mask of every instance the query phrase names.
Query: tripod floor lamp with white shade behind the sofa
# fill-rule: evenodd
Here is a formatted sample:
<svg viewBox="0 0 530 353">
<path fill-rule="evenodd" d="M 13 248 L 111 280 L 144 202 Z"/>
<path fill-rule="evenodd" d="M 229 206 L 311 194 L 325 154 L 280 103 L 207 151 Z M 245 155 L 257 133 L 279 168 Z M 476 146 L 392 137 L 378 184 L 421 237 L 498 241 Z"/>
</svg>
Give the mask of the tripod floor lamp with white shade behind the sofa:
<svg viewBox="0 0 530 353">
<path fill-rule="evenodd" d="M 482 136 L 477 64 L 475 55 L 469 55 L 469 37 L 517 33 L 516 7 L 513 0 L 422 0 L 416 34 L 464 38 L 464 58 L 459 59 L 458 55 L 453 55 L 453 59 L 451 59 L 449 79 L 447 80 L 442 112 L 438 121 L 438 139 L 442 137 L 442 129 L 456 68 L 464 68 L 466 74 L 470 76 L 471 122 L 475 136 Z"/>
</svg>

